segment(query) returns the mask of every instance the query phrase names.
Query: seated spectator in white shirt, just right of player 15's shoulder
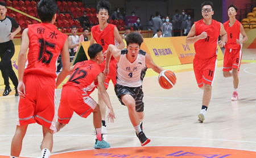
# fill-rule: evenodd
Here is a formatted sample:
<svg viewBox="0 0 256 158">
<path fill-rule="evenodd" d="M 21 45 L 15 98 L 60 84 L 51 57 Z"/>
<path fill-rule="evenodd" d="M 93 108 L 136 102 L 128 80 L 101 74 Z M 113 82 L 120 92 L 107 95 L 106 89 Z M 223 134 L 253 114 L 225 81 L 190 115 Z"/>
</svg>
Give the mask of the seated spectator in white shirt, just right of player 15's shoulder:
<svg viewBox="0 0 256 158">
<path fill-rule="evenodd" d="M 77 33 L 77 27 L 72 26 L 71 27 L 71 33 L 72 35 L 68 36 L 68 48 L 69 53 L 71 56 L 75 56 L 77 48 L 79 47 L 79 36 L 76 35 Z"/>
</svg>

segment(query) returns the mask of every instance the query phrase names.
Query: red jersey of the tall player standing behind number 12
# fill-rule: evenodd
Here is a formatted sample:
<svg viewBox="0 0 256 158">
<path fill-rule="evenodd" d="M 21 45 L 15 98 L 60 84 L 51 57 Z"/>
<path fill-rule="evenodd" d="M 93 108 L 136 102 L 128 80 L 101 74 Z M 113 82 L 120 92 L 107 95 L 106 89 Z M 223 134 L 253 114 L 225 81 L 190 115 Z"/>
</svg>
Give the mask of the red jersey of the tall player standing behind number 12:
<svg viewBox="0 0 256 158">
<path fill-rule="evenodd" d="M 114 28 L 115 25 L 109 23 L 102 31 L 99 24 L 92 27 L 93 39 L 103 47 L 103 52 L 108 49 L 109 44 L 115 45 Z"/>
</svg>

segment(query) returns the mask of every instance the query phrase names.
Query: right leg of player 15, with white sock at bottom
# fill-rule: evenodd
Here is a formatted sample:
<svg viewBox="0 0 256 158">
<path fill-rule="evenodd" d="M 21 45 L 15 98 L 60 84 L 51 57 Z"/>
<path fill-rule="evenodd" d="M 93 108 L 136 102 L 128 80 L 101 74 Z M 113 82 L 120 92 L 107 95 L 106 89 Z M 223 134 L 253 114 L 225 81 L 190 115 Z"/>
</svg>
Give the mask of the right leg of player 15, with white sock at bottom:
<svg viewBox="0 0 256 158">
<path fill-rule="evenodd" d="M 52 152 L 52 146 L 53 146 L 53 131 L 49 129 L 48 127 L 42 125 L 43 128 L 43 142 L 41 145 L 41 157 L 46 158 L 51 155 Z"/>
</svg>

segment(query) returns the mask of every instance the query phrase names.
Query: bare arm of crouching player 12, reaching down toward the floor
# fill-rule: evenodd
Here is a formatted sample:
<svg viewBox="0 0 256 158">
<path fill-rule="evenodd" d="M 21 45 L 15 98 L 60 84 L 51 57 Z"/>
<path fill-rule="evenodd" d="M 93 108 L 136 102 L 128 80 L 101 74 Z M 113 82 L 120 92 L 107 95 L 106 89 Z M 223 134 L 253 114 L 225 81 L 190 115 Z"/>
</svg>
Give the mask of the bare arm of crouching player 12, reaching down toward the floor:
<svg viewBox="0 0 256 158">
<path fill-rule="evenodd" d="M 109 109 L 109 114 L 108 114 L 107 118 L 108 118 L 108 120 L 110 119 L 111 122 L 114 122 L 115 113 L 114 113 L 113 107 L 110 102 L 109 94 L 106 92 L 106 88 L 104 85 L 104 81 L 105 81 L 104 74 L 103 73 L 98 74 L 97 80 L 98 80 L 98 90 L 100 91 L 101 97 Z"/>
</svg>

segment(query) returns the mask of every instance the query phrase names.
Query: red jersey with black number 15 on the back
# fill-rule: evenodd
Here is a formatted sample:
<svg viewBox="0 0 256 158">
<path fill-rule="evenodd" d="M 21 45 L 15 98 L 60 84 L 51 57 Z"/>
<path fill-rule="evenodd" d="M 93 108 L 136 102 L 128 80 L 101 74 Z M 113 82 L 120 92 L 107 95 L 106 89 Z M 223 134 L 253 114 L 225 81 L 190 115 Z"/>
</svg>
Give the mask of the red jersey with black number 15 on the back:
<svg viewBox="0 0 256 158">
<path fill-rule="evenodd" d="M 41 74 L 57 78 L 57 58 L 68 36 L 50 23 L 29 24 L 28 65 L 24 74 Z"/>
</svg>

